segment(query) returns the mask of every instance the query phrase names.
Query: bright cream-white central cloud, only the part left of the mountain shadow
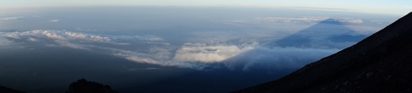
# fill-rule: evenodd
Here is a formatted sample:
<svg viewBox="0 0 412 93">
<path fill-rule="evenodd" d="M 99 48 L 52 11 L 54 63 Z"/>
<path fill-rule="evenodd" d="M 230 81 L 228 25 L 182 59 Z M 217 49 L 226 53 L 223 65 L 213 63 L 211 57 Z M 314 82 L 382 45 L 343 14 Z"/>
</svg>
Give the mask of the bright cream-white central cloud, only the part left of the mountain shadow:
<svg viewBox="0 0 412 93">
<path fill-rule="evenodd" d="M 99 47 L 113 55 L 135 63 L 150 63 L 161 66 L 176 66 L 203 70 L 208 63 L 221 63 L 231 57 L 251 50 L 253 45 L 207 45 L 186 43 L 173 52 L 170 47 L 151 47 L 149 52 L 137 52 L 114 47 Z"/>
</svg>

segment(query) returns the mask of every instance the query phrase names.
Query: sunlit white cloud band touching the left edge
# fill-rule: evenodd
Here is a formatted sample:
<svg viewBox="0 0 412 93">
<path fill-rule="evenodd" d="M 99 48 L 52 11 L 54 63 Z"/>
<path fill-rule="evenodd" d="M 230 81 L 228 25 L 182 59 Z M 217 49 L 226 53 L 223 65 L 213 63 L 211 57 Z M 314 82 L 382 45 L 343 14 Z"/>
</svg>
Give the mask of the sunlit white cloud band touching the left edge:
<svg viewBox="0 0 412 93">
<path fill-rule="evenodd" d="M 25 40 L 30 42 L 45 41 L 46 47 L 71 47 L 75 49 L 90 50 L 84 43 L 104 42 L 107 44 L 121 45 L 122 43 L 112 42 L 108 37 L 98 35 L 87 35 L 82 33 L 70 32 L 66 30 L 30 30 L 15 32 L 0 32 L 0 37 L 13 38 L 12 40 Z M 53 43 L 54 42 L 54 43 Z M 10 44 L 10 43 L 9 43 Z"/>
</svg>

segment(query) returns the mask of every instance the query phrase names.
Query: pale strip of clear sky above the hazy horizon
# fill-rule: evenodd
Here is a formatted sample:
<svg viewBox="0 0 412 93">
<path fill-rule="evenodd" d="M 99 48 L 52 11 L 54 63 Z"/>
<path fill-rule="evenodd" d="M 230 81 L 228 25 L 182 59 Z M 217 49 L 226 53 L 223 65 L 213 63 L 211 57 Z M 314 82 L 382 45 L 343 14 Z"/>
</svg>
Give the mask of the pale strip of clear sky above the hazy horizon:
<svg viewBox="0 0 412 93">
<path fill-rule="evenodd" d="M 0 8 L 76 5 L 242 6 L 300 7 L 316 10 L 346 10 L 361 13 L 404 15 L 412 10 L 410 0 L 0 0 Z"/>
</svg>

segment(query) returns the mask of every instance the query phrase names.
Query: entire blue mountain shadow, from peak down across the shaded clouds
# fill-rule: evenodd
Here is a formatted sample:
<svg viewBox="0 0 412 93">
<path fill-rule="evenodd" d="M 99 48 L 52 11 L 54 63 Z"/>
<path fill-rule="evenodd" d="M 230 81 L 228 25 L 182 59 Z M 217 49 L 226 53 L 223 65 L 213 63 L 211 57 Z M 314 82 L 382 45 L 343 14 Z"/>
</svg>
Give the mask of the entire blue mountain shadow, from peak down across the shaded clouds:
<svg viewBox="0 0 412 93">
<path fill-rule="evenodd" d="M 234 70 L 293 72 L 296 69 L 352 46 L 367 36 L 336 19 L 327 19 L 295 34 L 255 47 L 225 60 Z M 311 54 L 311 55 L 308 55 Z"/>
</svg>

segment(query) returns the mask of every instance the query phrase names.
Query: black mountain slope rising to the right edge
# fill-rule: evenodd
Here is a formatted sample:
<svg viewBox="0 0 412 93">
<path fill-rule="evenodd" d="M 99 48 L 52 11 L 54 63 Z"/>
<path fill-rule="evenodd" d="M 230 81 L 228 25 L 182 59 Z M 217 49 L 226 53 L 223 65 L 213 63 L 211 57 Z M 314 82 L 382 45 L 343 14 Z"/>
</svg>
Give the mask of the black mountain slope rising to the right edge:
<svg viewBox="0 0 412 93">
<path fill-rule="evenodd" d="M 240 93 L 412 92 L 412 13 L 356 45 Z"/>
</svg>

